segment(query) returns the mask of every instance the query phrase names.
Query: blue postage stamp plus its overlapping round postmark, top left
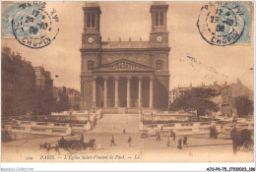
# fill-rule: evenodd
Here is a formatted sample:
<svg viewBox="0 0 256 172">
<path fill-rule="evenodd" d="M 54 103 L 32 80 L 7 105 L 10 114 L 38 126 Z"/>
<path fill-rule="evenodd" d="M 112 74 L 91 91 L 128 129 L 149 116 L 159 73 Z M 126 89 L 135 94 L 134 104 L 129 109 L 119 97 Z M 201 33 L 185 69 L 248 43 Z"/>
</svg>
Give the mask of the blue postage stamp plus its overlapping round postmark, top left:
<svg viewBox="0 0 256 172">
<path fill-rule="evenodd" d="M 46 12 L 45 2 L 3 3 L 2 37 L 15 38 L 37 49 L 49 45 L 59 32 L 56 10 Z"/>
</svg>

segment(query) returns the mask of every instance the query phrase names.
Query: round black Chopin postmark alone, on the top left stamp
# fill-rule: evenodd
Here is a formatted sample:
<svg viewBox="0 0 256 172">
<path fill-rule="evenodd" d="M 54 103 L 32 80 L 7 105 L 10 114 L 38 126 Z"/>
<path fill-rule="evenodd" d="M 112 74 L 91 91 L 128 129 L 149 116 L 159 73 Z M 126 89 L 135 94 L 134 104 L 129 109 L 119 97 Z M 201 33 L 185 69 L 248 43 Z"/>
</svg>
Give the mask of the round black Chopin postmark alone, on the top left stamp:
<svg viewBox="0 0 256 172">
<path fill-rule="evenodd" d="M 56 10 L 47 13 L 44 8 L 45 4 L 24 3 L 15 9 L 17 12 L 12 19 L 12 30 L 22 45 L 38 49 L 56 38 L 59 32 Z"/>
</svg>

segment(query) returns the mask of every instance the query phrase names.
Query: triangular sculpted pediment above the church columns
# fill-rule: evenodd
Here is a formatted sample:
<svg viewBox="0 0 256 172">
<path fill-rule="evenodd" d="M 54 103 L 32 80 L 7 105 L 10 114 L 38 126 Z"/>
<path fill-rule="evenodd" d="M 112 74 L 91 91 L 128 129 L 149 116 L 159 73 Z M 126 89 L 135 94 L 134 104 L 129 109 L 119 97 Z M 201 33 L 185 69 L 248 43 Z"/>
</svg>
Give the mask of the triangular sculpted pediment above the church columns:
<svg viewBox="0 0 256 172">
<path fill-rule="evenodd" d="M 96 67 L 93 72 L 115 72 L 115 71 L 154 71 L 153 68 L 136 63 L 133 61 L 121 59 L 102 66 Z"/>
</svg>

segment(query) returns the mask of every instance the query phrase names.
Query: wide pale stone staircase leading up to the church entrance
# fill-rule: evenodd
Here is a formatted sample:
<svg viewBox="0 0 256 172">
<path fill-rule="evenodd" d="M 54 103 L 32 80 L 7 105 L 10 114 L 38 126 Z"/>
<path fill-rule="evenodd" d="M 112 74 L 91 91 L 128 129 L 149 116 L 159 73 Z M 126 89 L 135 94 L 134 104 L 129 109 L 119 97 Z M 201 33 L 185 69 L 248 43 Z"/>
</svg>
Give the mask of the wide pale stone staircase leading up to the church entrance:
<svg viewBox="0 0 256 172">
<path fill-rule="evenodd" d="M 96 127 L 89 133 L 139 133 L 138 114 L 103 114 Z"/>
</svg>

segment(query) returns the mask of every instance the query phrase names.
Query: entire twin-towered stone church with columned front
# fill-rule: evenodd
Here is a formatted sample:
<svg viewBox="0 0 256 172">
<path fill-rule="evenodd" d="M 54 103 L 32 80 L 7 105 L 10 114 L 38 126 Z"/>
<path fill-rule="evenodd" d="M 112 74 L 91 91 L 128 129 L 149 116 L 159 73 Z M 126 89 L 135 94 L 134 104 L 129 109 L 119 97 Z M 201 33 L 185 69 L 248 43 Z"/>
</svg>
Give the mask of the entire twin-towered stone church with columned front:
<svg viewBox="0 0 256 172">
<path fill-rule="evenodd" d="M 82 108 L 165 109 L 168 106 L 168 5 L 149 9 L 149 41 L 101 41 L 100 7 L 87 3 L 81 51 Z M 102 14 L 103 15 L 103 14 Z M 138 26 L 139 27 L 139 26 Z"/>
</svg>

